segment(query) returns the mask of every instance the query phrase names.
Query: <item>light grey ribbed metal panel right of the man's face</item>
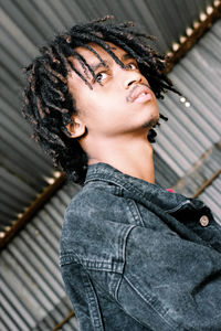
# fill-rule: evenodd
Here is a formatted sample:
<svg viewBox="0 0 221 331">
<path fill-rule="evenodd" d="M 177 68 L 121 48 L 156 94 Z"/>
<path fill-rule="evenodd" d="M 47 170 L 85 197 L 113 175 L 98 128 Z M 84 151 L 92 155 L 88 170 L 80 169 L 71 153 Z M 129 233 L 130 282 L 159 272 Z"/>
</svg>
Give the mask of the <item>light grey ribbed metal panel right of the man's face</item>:
<svg viewBox="0 0 221 331">
<path fill-rule="evenodd" d="M 221 132 L 221 22 L 175 66 L 169 77 L 188 98 L 187 108 L 179 97 L 168 94 L 160 110 L 169 121 L 159 129 L 158 154 L 179 178 L 202 153 L 220 140 Z"/>
</svg>

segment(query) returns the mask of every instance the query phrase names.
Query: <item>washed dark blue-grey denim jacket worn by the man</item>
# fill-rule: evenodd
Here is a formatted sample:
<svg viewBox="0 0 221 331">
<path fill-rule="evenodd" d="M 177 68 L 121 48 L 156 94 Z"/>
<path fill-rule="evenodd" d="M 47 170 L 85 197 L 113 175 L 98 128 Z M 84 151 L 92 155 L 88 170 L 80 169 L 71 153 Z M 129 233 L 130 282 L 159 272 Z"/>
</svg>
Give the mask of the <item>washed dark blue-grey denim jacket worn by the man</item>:
<svg viewBox="0 0 221 331">
<path fill-rule="evenodd" d="M 221 331 L 221 226 L 199 200 L 90 166 L 60 263 L 81 331 Z"/>
</svg>

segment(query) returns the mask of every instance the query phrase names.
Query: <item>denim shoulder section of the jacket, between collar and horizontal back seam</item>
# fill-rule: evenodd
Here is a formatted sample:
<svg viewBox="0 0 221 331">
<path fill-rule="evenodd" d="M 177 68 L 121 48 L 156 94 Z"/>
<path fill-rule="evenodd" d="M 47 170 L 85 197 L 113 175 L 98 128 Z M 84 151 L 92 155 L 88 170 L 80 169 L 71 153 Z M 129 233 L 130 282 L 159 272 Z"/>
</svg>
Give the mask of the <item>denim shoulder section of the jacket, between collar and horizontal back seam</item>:
<svg viewBox="0 0 221 331">
<path fill-rule="evenodd" d="M 114 192 L 86 185 L 72 199 L 60 241 L 62 260 L 69 255 L 87 268 L 122 268 L 126 237 L 135 225 L 129 224 L 125 199 Z"/>
</svg>

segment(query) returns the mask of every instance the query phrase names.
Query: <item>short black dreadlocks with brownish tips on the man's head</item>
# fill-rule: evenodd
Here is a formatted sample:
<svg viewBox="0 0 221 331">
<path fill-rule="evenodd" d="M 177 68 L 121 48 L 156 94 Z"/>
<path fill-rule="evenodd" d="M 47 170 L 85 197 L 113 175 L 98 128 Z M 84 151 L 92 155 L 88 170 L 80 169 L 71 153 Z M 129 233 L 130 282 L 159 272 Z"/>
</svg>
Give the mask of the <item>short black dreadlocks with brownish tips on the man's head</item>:
<svg viewBox="0 0 221 331">
<path fill-rule="evenodd" d="M 59 34 L 53 42 L 41 47 L 41 55 L 24 68 L 28 84 L 23 93 L 22 114 L 32 126 L 32 138 L 39 141 L 52 158 L 54 167 L 62 167 L 67 178 L 80 184 L 85 180 L 88 160 L 77 139 L 67 137 L 70 132 L 65 127 L 72 122 L 71 116 L 77 113 L 74 97 L 67 88 L 70 71 L 74 71 L 90 88 L 92 86 L 73 66 L 70 56 L 77 58 L 85 73 L 90 71 L 93 77 L 96 77 L 85 58 L 75 51 L 77 46 L 90 50 L 103 63 L 101 56 L 90 45 L 96 43 L 124 67 L 106 43 L 112 42 L 137 61 L 140 73 L 147 78 L 157 98 L 164 98 L 162 93 L 167 90 L 180 94 L 164 74 L 167 56 L 146 44 L 147 39 L 154 40 L 152 36 L 134 31 L 133 22 L 120 24 L 106 22 L 112 18 L 105 17 L 86 24 L 77 24 L 70 31 Z M 160 117 L 164 120 L 168 119 L 162 115 Z M 156 135 L 154 129 L 149 130 L 150 142 L 155 142 Z"/>
</svg>

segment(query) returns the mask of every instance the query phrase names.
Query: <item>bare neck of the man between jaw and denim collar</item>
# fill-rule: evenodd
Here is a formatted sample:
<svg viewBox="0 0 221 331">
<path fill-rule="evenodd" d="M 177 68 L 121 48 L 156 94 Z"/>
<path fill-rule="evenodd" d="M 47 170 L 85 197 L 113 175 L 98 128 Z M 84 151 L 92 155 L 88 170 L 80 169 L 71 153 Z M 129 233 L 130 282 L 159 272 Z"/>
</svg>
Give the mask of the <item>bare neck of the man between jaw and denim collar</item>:
<svg viewBox="0 0 221 331">
<path fill-rule="evenodd" d="M 152 147 L 146 135 L 136 139 L 101 139 L 87 154 L 91 156 L 88 164 L 104 162 L 123 173 L 155 183 Z"/>
</svg>

